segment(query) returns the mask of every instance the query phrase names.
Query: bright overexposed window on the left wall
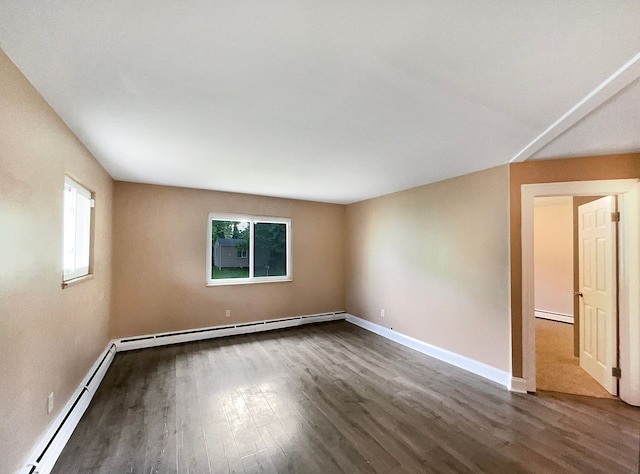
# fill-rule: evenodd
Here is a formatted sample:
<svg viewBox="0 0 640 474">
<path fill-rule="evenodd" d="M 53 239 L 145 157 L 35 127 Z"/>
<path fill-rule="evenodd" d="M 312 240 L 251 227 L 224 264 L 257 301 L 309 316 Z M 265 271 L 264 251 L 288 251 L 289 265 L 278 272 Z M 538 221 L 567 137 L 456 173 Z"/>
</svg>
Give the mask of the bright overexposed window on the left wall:
<svg viewBox="0 0 640 474">
<path fill-rule="evenodd" d="M 65 176 L 63 282 L 89 274 L 92 207 L 91 192 Z"/>
</svg>

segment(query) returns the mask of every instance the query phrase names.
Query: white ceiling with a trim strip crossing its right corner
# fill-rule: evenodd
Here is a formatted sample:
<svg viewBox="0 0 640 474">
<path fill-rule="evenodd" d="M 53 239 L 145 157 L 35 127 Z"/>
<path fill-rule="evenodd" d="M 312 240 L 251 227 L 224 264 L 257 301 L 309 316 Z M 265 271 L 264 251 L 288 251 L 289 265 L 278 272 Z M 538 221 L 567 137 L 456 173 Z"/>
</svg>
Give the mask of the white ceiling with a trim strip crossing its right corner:
<svg viewBox="0 0 640 474">
<path fill-rule="evenodd" d="M 336 203 L 640 151 L 638 25 L 637 0 L 0 0 L 0 47 L 115 179 Z"/>
</svg>

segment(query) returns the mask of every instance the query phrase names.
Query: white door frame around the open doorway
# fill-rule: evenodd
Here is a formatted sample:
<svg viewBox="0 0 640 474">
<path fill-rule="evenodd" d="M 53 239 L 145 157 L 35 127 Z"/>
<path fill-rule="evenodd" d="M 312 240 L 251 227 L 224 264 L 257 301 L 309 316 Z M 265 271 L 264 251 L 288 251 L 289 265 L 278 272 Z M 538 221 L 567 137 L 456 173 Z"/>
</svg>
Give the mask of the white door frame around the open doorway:
<svg viewBox="0 0 640 474">
<path fill-rule="evenodd" d="M 619 396 L 640 406 L 640 192 L 638 179 L 572 181 L 521 186 L 522 375 L 528 392 L 536 391 L 533 208 L 536 197 L 618 196 L 619 252 Z"/>
</svg>

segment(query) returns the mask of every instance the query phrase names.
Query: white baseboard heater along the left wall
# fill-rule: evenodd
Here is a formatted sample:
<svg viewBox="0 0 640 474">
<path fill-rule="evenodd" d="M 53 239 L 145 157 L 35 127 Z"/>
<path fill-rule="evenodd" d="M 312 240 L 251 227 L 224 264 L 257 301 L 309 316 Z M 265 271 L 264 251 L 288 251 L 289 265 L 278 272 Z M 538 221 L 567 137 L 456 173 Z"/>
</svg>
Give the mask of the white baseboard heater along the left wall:
<svg viewBox="0 0 640 474">
<path fill-rule="evenodd" d="M 40 441 L 31 450 L 21 474 L 49 474 L 53 469 L 58 456 L 71 437 L 73 430 L 80 422 L 80 418 L 89 406 L 89 402 L 100 386 L 100 382 L 107 373 L 116 354 L 116 346 L 113 341 L 95 361 L 87 375 L 82 379 L 78 388 L 73 392 L 58 416 L 49 426 L 49 429 L 40 438 Z"/>
</svg>

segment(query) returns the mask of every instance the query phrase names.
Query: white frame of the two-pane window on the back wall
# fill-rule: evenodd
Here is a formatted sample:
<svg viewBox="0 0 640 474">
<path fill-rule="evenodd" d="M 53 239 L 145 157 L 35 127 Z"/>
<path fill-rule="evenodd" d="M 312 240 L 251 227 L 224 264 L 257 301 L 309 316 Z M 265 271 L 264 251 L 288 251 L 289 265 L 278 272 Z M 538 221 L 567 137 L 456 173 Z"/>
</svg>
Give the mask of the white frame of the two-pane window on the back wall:
<svg viewBox="0 0 640 474">
<path fill-rule="evenodd" d="M 212 271 L 212 256 L 213 256 L 213 232 L 211 222 L 218 221 L 239 221 L 249 222 L 249 276 L 247 278 L 211 278 Z M 253 275 L 254 271 L 254 230 L 255 224 L 285 224 L 286 229 L 286 252 L 287 252 L 287 270 L 286 275 L 279 276 L 262 276 L 256 277 Z M 221 285 L 246 285 L 250 283 L 272 283 L 280 281 L 292 281 L 293 276 L 291 274 L 291 219 L 287 217 L 264 217 L 264 216 L 250 216 L 244 214 L 223 214 L 223 213 L 210 213 L 207 219 L 207 286 L 221 286 Z"/>
</svg>

